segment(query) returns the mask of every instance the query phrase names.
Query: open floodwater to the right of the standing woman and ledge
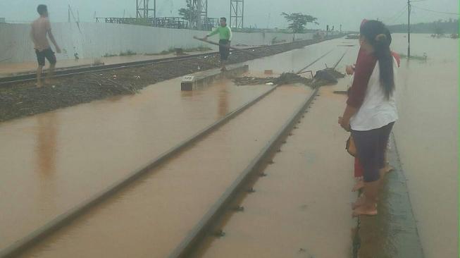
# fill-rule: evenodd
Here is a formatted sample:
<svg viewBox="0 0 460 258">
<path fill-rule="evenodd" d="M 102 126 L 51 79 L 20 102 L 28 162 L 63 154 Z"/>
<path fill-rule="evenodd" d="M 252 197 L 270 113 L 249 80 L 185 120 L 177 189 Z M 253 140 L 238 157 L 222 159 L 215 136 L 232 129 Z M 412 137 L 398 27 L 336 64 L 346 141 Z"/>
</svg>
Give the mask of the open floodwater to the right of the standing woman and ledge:
<svg viewBox="0 0 460 258">
<path fill-rule="evenodd" d="M 425 257 L 458 257 L 459 42 L 411 36 L 411 54 L 397 79 L 399 121 L 394 126 L 409 197 Z M 394 50 L 406 53 L 404 35 Z"/>
</svg>

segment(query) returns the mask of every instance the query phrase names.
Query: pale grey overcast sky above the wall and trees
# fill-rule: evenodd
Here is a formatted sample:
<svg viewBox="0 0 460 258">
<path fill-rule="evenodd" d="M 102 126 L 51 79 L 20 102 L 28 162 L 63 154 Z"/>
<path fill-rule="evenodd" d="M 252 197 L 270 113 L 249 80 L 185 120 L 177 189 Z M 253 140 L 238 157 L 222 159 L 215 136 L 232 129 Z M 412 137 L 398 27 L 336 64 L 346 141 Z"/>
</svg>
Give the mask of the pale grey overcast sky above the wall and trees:
<svg viewBox="0 0 460 258">
<path fill-rule="evenodd" d="M 151 0 L 153 1 L 153 0 Z M 185 0 L 157 0 L 157 16 L 178 16 L 178 8 L 185 6 Z M 97 17 L 135 16 L 135 0 L 0 0 L 0 17 L 10 21 L 33 20 L 38 4 L 49 6 L 52 21 L 66 21 L 68 4 L 80 14 L 81 21 L 94 21 Z M 209 17 L 228 17 L 230 0 L 208 0 Z M 406 0 L 245 0 L 244 27 L 286 27 L 281 12 L 307 13 L 318 18 L 319 26 L 343 25 L 344 30 L 357 30 L 363 18 L 380 18 L 387 24 L 406 23 L 407 11 L 403 11 Z M 426 0 L 414 2 L 414 6 L 444 11 L 459 12 L 457 0 Z M 401 15 L 399 15 L 401 14 Z M 458 18 L 458 16 L 433 13 L 413 8 L 411 22 L 430 22 L 438 19 Z"/>
</svg>

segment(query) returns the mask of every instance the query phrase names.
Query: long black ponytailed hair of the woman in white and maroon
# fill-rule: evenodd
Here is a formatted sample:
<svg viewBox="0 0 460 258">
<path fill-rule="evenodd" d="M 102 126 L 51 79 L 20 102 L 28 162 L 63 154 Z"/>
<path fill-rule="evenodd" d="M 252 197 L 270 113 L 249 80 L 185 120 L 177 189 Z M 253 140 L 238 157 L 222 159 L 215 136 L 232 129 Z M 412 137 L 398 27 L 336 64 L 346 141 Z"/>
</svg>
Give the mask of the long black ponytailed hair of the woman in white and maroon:
<svg viewBox="0 0 460 258">
<path fill-rule="evenodd" d="M 380 84 L 387 99 L 394 91 L 393 56 L 390 51 L 391 35 L 385 25 L 378 20 L 368 20 L 361 26 L 361 36 L 374 48 L 380 68 Z"/>
</svg>

